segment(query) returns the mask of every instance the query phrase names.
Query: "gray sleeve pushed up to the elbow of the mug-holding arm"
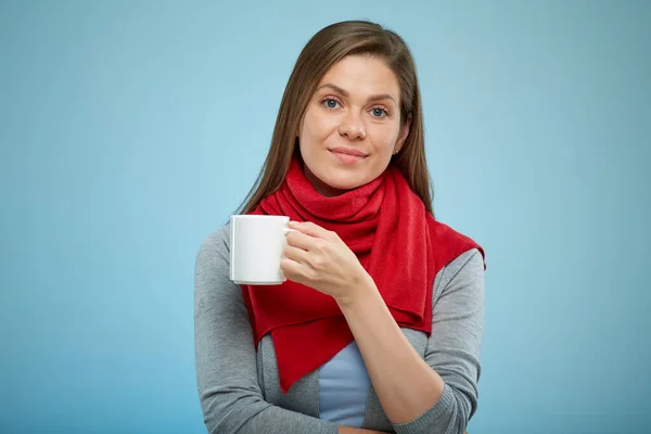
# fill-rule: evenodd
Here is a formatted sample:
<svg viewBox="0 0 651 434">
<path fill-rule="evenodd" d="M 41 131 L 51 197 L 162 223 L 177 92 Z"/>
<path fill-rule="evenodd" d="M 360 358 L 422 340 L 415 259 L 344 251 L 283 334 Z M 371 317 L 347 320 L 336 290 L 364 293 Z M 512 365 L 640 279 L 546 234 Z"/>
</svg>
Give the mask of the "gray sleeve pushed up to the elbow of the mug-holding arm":
<svg viewBox="0 0 651 434">
<path fill-rule="evenodd" d="M 477 250 L 445 267 L 434 290 L 425 361 L 445 382 L 441 399 L 418 419 L 394 424 L 398 434 L 462 434 L 477 407 L 484 329 L 484 260 Z"/>
</svg>

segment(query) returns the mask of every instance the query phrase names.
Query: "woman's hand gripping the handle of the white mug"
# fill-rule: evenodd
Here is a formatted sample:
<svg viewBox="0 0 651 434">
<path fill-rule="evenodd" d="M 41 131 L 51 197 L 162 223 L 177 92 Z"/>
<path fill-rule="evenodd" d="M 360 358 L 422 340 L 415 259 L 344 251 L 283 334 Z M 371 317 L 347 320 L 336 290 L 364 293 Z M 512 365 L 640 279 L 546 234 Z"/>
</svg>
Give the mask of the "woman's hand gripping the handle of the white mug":
<svg viewBox="0 0 651 434">
<path fill-rule="evenodd" d="M 340 304 L 374 288 L 357 256 L 336 234 L 312 222 L 290 222 L 280 268 L 294 282 L 331 295 Z"/>
</svg>

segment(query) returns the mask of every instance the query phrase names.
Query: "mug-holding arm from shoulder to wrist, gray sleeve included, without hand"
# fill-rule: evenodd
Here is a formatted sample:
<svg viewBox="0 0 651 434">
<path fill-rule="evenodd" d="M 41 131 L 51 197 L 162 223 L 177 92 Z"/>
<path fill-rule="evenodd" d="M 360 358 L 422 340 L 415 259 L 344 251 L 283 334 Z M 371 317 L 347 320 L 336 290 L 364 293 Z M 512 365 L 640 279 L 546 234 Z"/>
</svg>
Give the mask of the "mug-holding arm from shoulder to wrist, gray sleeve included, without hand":
<svg viewBox="0 0 651 434">
<path fill-rule="evenodd" d="M 374 284 L 340 303 L 369 376 L 398 434 L 459 434 L 476 408 L 484 319 L 484 267 L 478 251 L 437 277 L 425 358 L 400 331 Z"/>
</svg>

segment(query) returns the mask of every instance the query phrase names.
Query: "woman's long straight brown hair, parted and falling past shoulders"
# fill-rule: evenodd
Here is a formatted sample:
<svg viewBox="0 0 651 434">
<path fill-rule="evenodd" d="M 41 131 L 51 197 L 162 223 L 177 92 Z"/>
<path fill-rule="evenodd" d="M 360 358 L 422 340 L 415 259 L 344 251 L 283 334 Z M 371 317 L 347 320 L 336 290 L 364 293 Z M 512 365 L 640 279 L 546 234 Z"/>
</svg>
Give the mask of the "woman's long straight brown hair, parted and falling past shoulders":
<svg viewBox="0 0 651 434">
<path fill-rule="evenodd" d="M 328 69 L 348 55 L 372 55 L 384 60 L 400 86 L 400 123 L 411 119 L 411 127 L 400 152 L 392 157 L 411 190 L 433 213 L 433 187 L 427 171 L 423 133 L 421 97 L 413 58 L 397 34 L 367 21 L 345 21 L 331 24 L 307 42 L 282 95 L 271 146 L 241 214 L 251 213 L 267 195 L 280 189 L 290 168 L 292 156 L 298 153 L 296 131 L 301 118 L 319 81 Z"/>
</svg>

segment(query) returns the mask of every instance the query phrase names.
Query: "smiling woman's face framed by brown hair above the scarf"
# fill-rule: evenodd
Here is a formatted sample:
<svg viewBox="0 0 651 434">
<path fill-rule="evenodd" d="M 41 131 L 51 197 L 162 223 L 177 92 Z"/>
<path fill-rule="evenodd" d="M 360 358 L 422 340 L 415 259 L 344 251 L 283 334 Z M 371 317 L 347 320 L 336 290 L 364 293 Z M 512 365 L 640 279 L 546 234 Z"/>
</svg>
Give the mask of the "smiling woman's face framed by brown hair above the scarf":
<svg viewBox="0 0 651 434">
<path fill-rule="evenodd" d="M 323 76 L 298 131 L 305 175 L 332 196 L 379 177 L 409 132 L 400 88 L 381 59 L 350 55 Z"/>
</svg>

